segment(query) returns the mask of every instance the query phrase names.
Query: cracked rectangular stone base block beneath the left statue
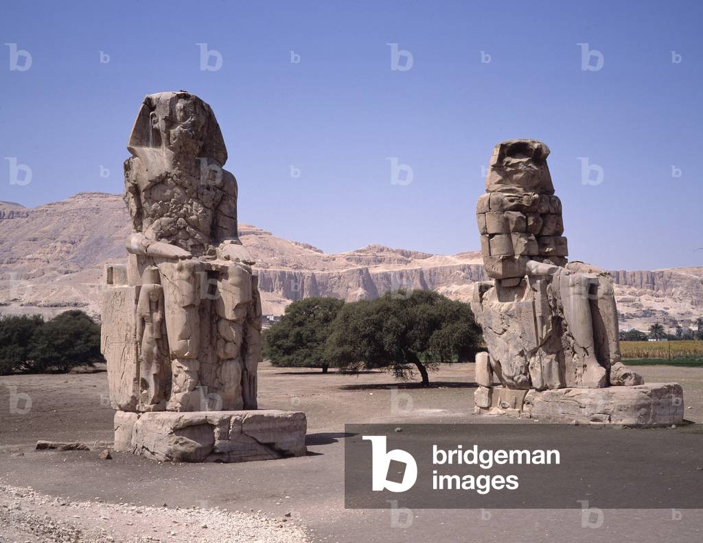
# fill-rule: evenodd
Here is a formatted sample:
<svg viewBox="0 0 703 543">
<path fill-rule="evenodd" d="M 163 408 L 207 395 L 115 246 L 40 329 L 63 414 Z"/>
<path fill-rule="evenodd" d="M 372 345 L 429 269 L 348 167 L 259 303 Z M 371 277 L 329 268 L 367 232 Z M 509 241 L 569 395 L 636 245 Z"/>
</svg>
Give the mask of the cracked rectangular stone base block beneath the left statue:
<svg viewBox="0 0 703 543">
<path fill-rule="evenodd" d="M 307 453 L 298 411 L 115 413 L 115 450 L 160 462 L 250 462 Z"/>
</svg>

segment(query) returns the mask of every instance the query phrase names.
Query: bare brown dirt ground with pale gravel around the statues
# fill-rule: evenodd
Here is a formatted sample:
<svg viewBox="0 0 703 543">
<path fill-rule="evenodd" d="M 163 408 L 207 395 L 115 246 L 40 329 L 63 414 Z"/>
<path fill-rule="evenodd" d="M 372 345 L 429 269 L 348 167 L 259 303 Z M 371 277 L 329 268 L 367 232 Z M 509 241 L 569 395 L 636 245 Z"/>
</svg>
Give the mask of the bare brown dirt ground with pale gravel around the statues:
<svg viewBox="0 0 703 543">
<path fill-rule="evenodd" d="M 686 419 L 703 423 L 703 368 L 638 371 L 647 382 L 681 383 Z M 344 509 L 345 423 L 515 423 L 470 414 L 472 364 L 430 379 L 420 388 L 382 372 L 264 365 L 259 407 L 306 412 L 307 457 L 161 464 L 119 452 L 103 460 L 102 446 L 34 450 L 40 439 L 112 441 L 105 372 L 0 377 L 0 542 L 703 541 L 703 509 L 607 510 L 599 528 L 584 527 L 577 509 L 422 509 L 403 518 Z"/>
</svg>

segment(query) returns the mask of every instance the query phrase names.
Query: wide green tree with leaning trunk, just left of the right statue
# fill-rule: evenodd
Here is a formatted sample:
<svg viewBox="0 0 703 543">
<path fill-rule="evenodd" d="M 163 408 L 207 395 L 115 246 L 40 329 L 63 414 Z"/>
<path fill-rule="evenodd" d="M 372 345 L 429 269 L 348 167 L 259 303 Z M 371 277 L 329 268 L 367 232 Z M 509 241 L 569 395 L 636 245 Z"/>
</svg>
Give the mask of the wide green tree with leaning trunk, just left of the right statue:
<svg viewBox="0 0 703 543">
<path fill-rule="evenodd" d="M 333 322 L 325 358 L 350 372 L 387 369 L 397 379 L 417 369 L 428 386 L 428 371 L 441 361 L 470 360 L 480 338 L 467 304 L 432 291 L 399 291 L 347 303 Z"/>
</svg>

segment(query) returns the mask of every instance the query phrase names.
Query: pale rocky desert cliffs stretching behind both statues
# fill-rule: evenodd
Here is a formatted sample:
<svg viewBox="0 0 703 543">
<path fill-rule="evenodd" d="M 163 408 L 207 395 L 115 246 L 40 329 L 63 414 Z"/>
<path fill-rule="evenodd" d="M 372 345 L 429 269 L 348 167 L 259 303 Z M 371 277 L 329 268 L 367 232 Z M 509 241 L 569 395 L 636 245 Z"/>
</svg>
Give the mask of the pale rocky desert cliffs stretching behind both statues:
<svg viewBox="0 0 703 543">
<path fill-rule="evenodd" d="M 98 316 L 103 263 L 124 259 L 130 231 L 121 195 L 80 192 L 34 209 L 0 202 L 0 312 L 51 316 L 79 307 Z M 474 282 L 486 278 L 478 251 L 442 256 L 368 245 L 325 254 L 243 224 L 240 238 L 257 261 L 264 313 L 271 315 L 306 296 L 354 301 L 397 289 L 469 301 Z M 621 328 L 672 319 L 687 325 L 703 316 L 703 267 L 611 273 Z"/>
</svg>

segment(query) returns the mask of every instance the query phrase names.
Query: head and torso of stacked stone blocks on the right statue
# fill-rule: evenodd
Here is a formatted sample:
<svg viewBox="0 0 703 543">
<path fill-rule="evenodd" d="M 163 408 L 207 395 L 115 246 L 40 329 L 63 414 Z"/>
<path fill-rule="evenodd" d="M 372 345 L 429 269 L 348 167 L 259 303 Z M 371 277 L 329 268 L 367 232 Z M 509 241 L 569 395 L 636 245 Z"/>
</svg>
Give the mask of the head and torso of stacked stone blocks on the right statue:
<svg viewBox="0 0 703 543">
<path fill-rule="evenodd" d="M 562 203 L 547 166 L 549 148 L 538 140 L 498 143 L 479 197 L 476 217 L 489 277 L 524 277 L 530 260 L 564 266 L 567 239 Z"/>
</svg>

